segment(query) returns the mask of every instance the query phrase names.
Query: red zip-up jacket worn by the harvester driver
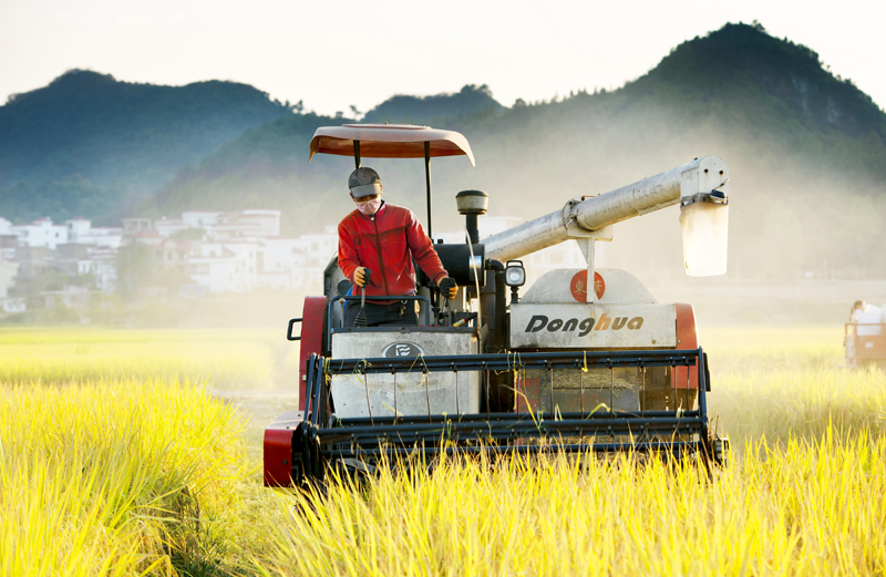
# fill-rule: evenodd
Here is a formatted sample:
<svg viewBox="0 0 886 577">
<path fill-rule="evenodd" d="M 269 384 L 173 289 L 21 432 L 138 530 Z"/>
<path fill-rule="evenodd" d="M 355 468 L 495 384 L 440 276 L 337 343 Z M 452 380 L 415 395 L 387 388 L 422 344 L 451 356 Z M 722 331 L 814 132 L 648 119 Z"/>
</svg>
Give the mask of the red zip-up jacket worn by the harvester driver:
<svg viewBox="0 0 886 577">
<path fill-rule="evenodd" d="M 339 268 L 351 282 L 358 267 L 372 270 L 369 297 L 414 295 L 413 258 L 434 282 L 449 276 L 409 208 L 382 203 L 373 216 L 354 210 L 339 223 Z"/>
</svg>

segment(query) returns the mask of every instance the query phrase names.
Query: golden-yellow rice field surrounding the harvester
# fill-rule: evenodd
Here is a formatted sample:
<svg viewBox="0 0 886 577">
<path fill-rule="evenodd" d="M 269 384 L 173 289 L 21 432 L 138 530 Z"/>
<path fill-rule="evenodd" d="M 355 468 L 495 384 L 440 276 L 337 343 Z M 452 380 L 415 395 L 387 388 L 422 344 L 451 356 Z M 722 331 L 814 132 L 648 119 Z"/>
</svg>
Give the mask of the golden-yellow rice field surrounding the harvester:
<svg viewBox="0 0 886 577">
<path fill-rule="evenodd" d="M 281 331 L 0 330 L 0 575 L 886 573 L 883 372 L 836 326 L 701 337 L 712 478 L 546 456 L 302 494 L 260 486 Z"/>
</svg>

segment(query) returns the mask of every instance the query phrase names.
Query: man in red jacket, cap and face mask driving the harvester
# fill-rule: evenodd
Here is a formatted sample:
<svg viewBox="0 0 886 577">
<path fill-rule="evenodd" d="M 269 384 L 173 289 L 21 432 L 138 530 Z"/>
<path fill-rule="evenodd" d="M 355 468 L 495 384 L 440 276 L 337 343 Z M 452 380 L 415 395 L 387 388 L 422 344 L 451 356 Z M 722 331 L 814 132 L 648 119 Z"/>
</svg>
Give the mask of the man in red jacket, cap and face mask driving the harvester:
<svg viewBox="0 0 886 577">
<path fill-rule="evenodd" d="M 441 293 L 454 298 L 457 286 L 415 214 L 381 199 L 379 173 L 358 168 L 348 178 L 348 188 L 357 210 L 339 223 L 339 268 L 354 287 L 361 287 L 368 297 L 414 295 L 414 258 Z M 360 311 L 361 307 L 351 301 L 344 308 L 344 326 L 352 327 Z M 415 307 L 408 300 L 373 300 L 365 303 L 364 315 L 370 327 L 419 323 Z"/>
</svg>

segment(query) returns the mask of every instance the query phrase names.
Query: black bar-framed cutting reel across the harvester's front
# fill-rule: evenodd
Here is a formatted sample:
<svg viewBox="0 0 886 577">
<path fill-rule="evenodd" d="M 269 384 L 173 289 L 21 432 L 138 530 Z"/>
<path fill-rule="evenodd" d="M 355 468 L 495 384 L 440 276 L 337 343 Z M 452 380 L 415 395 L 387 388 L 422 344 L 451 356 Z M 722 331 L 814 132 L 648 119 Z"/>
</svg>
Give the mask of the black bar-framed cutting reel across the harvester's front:
<svg viewBox="0 0 886 577">
<path fill-rule="evenodd" d="M 545 352 L 308 361 L 308 403 L 293 444 L 292 476 L 322 478 L 329 465 L 370 466 L 384 457 L 436 454 L 523 454 L 576 452 L 666 452 L 714 457 L 708 434 L 707 392 L 710 390 L 701 349 L 607 352 Z M 610 369 L 636 367 L 694 367 L 698 371 L 698 409 L 615 410 L 612 404 L 591 411 L 488 412 L 491 371 L 528 369 Z M 399 372 L 481 371 L 487 412 L 338 418 L 330 379 L 340 373 L 367 375 Z M 583 374 L 584 371 L 579 371 Z M 687 371 L 689 372 L 689 371 Z M 614 380 L 614 379 L 612 379 Z M 426 382 L 426 380 L 425 380 Z M 394 391 L 396 388 L 394 387 Z M 457 391 L 457 385 L 456 385 Z M 552 387 L 553 391 L 553 387 Z M 674 391 L 676 392 L 676 391 Z M 394 394 L 396 394 L 394 392 Z M 457 393 L 456 393 L 457 394 Z M 457 406 L 457 402 L 456 402 Z M 298 453 L 298 454 L 296 454 Z M 297 471 L 299 470 L 299 471 Z"/>
</svg>

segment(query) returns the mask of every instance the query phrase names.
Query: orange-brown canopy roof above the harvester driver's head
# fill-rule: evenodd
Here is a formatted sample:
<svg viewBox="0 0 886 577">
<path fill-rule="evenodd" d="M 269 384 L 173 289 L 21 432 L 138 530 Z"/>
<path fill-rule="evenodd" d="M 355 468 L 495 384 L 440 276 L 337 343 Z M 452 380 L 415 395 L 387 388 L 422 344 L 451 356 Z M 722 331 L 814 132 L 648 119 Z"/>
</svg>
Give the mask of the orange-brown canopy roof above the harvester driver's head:
<svg viewBox="0 0 886 577">
<path fill-rule="evenodd" d="M 311 138 L 311 155 L 353 156 L 353 141 L 360 141 L 361 158 L 424 158 L 424 143 L 431 156 L 466 155 L 474 166 L 467 138 L 457 132 L 411 124 L 342 124 L 317 128 Z"/>
</svg>

